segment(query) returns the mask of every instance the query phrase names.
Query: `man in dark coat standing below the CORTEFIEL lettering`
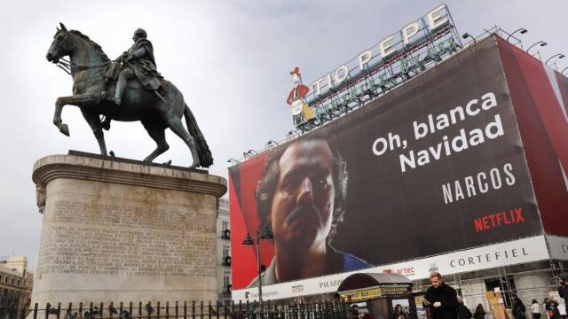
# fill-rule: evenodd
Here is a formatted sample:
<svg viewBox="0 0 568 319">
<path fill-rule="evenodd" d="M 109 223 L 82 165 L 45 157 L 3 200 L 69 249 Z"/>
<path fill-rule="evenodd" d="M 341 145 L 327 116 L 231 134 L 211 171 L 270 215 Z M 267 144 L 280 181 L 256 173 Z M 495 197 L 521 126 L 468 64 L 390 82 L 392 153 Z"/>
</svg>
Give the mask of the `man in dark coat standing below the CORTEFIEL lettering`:
<svg viewBox="0 0 568 319">
<path fill-rule="evenodd" d="M 423 303 L 430 309 L 430 318 L 457 319 L 458 299 L 454 288 L 445 284 L 438 272 L 430 274 L 430 283 Z"/>
</svg>

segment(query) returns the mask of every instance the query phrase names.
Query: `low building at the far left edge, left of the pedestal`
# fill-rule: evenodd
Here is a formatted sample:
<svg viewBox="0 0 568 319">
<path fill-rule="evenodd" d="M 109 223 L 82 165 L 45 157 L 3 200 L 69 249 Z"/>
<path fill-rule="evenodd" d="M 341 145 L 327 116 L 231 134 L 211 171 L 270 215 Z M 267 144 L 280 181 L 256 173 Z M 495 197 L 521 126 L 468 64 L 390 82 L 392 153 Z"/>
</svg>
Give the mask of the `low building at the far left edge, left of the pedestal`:
<svg viewBox="0 0 568 319">
<path fill-rule="evenodd" d="M 34 276 L 28 258 L 12 256 L 0 261 L 0 318 L 21 318 L 30 308 Z"/>
</svg>

